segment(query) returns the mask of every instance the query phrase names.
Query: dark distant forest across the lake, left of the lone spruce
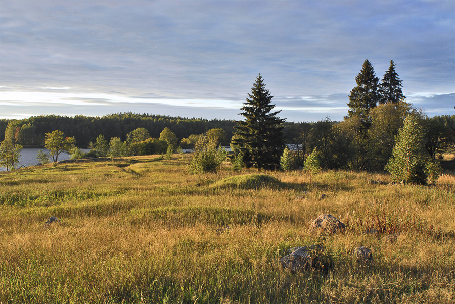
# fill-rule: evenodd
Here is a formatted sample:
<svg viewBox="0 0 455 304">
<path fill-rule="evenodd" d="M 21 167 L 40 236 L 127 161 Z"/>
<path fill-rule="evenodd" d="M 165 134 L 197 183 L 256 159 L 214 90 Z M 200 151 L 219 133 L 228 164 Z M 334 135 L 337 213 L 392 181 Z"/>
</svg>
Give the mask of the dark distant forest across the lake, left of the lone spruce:
<svg viewBox="0 0 455 304">
<path fill-rule="evenodd" d="M 137 128 L 146 128 L 151 137 L 158 138 L 161 131 L 168 127 L 180 140 L 191 134 L 201 134 L 213 128 L 222 128 L 230 139 L 236 124 L 233 120 L 189 119 L 131 112 L 109 114 L 103 117 L 46 115 L 21 120 L 0 120 L 0 141 L 5 139 L 5 131 L 10 122 L 13 124 L 10 129 L 14 129 L 16 142 L 23 146 L 42 147 L 46 133 L 60 130 L 66 136 L 74 136 L 76 145 L 84 148 L 95 141 L 100 134 L 107 140 L 113 137 L 125 140 L 126 134 Z"/>
</svg>

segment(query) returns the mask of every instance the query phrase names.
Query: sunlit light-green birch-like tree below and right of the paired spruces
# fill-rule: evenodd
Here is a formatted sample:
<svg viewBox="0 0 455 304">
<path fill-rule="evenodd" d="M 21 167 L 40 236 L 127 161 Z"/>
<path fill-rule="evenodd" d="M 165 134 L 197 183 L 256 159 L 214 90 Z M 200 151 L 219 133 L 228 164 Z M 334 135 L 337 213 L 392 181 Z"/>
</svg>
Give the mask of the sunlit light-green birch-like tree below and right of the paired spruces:
<svg viewBox="0 0 455 304">
<path fill-rule="evenodd" d="M 415 115 L 406 117 L 395 142 L 392 156 L 385 167 L 392 174 L 392 179 L 397 182 L 425 183 L 428 156 L 424 148 L 424 131 Z"/>
</svg>

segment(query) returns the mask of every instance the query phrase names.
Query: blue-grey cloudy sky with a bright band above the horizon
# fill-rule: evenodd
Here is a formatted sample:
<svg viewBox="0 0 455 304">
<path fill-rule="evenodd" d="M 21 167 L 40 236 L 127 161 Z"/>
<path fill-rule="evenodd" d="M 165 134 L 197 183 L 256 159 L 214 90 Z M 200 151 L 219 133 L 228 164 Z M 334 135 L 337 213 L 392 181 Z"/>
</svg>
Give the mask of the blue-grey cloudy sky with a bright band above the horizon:
<svg viewBox="0 0 455 304">
<path fill-rule="evenodd" d="M 260 73 L 281 118 L 339 121 L 365 59 L 455 114 L 455 2 L 0 0 L 0 118 L 239 120 Z"/>
</svg>

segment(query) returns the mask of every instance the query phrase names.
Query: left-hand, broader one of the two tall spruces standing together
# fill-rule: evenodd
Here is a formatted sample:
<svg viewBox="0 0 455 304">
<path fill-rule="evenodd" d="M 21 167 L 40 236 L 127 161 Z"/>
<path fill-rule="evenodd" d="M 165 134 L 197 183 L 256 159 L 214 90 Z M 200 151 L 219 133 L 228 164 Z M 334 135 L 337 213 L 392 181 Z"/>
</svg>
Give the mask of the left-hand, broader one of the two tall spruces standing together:
<svg viewBox="0 0 455 304">
<path fill-rule="evenodd" d="M 358 116 L 365 125 L 370 123 L 370 109 L 376 107 L 381 95 L 379 94 L 379 78 L 371 62 L 366 59 L 362 69 L 355 76 L 357 86 L 351 90 L 349 95 L 348 115 L 346 118 Z"/>
</svg>

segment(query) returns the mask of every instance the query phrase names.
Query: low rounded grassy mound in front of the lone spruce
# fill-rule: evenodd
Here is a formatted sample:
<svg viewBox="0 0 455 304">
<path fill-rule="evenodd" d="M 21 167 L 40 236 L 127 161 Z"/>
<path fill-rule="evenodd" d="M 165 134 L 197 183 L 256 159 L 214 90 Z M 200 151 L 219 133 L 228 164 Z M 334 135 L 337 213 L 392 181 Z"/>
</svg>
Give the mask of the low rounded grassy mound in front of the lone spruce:
<svg viewBox="0 0 455 304">
<path fill-rule="evenodd" d="M 282 186 L 281 181 L 273 176 L 267 174 L 253 173 L 247 175 L 226 177 L 213 183 L 210 186 L 210 188 L 259 189 L 263 187 L 278 188 L 280 186 Z"/>
</svg>

